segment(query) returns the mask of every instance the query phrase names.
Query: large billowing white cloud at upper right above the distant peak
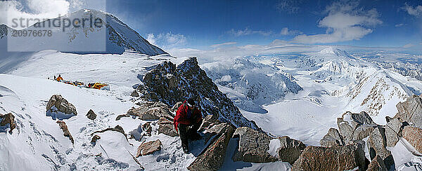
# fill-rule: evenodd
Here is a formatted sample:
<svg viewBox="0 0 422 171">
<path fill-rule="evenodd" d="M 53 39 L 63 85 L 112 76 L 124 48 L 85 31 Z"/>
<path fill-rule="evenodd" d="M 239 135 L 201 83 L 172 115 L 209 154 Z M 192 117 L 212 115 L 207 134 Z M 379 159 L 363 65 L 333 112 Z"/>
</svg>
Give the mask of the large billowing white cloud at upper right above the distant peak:
<svg viewBox="0 0 422 171">
<path fill-rule="evenodd" d="M 338 1 L 326 7 L 328 15 L 319 21 L 318 27 L 326 28 L 325 34 L 301 34 L 293 43 L 335 43 L 359 40 L 373 32 L 372 27 L 383 23 L 375 8 L 364 11 L 356 1 Z"/>
</svg>

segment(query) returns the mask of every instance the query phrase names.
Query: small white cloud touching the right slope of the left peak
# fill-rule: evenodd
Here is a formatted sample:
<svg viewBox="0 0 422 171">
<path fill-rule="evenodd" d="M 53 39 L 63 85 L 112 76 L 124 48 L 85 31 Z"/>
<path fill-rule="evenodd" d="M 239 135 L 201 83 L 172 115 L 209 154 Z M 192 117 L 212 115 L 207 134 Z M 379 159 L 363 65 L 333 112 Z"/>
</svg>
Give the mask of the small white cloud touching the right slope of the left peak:
<svg viewBox="0 0 422 171">
<path fill-rule="evenodd" d="M 166 50 L 170 50 L 172 48 L 181 48 L 186 46 L 187 43 L 186 36 L 183 34 L 172 34 L 171 32 L 161 33 L 158 35 L 147 34 L 146 40 L 149 43 Z"/>
</svg>

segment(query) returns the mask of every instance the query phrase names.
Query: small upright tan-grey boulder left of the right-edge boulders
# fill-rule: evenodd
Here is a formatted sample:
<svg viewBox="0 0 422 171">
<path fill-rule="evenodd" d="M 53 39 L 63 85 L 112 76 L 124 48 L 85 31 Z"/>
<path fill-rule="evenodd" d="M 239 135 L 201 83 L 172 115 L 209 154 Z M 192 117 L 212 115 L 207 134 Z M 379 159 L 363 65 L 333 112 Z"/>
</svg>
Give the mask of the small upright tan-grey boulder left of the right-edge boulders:
<svg viewBox="0 0 422 171">
<path fill-rule="evenodd" d="M 399 142 L 399 137 L 402 135 L 402 122 L 398 118 L 392 118 L 390 122 L 385 125 L 385 136 L 387 139 L 387 146 L 395 146 Z"/>
</svg>

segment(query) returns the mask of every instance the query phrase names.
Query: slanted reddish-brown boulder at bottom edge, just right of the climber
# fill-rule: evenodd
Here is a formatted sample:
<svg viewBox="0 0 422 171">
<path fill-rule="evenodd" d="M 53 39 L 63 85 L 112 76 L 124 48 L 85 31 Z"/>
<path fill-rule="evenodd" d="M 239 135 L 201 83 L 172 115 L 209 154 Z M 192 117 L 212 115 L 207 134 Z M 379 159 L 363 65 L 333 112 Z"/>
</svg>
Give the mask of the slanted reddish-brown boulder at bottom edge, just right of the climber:
<svg viewBox="0 0 422 171">
<path fill-rule="evenodd" d="M 188 170 L 219 170 L 222 166 L 234 127 L 227 123 L 222 123 L 218 127 L 217 130 L 221 131 L 211 139 L 210 145 L 188 166 Z"/>
</svg>

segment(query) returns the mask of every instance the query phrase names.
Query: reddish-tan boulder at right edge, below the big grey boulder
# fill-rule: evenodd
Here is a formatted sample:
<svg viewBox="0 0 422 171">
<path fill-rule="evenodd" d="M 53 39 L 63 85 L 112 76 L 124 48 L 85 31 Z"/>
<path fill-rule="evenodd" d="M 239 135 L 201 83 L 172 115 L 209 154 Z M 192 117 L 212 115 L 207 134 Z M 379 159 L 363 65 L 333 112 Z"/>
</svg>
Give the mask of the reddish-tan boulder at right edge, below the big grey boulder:
<svg viewBox="0 0 422 171">
<path fill-rule="evenodd" d="M 422 153 L 422 129 L 413 126 L 405 126 L 402 131 L 403 138 L 414 146 L 416 151 Z"/>
</svg>

